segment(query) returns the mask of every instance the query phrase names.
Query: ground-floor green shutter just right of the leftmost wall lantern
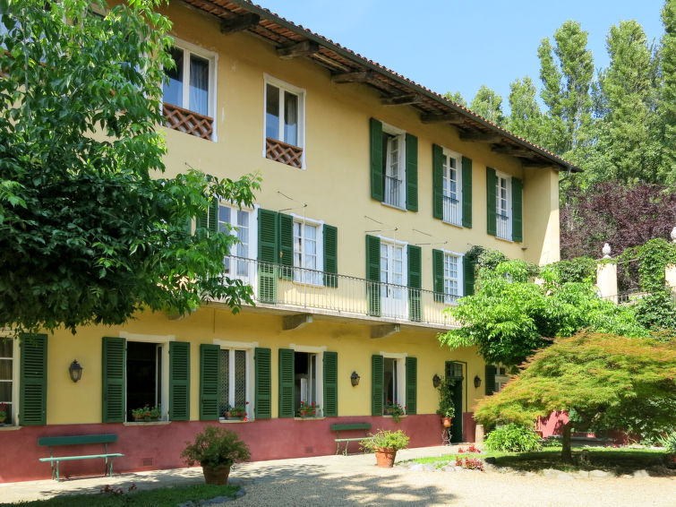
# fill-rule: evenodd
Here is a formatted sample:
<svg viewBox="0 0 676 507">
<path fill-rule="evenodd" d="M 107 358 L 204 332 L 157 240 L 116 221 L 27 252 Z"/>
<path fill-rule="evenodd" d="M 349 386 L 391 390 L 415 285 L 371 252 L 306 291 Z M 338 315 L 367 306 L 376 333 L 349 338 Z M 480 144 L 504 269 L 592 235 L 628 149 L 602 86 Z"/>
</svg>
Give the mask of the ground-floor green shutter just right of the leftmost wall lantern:
<svg viewBox="0 0 676 507">
<path fill-rule="evenodd" d="M 127 343 L 124 338 L 103 338 L 102 402 L 104 423 L 124 423 L 126 419 Z"/>
</svg>

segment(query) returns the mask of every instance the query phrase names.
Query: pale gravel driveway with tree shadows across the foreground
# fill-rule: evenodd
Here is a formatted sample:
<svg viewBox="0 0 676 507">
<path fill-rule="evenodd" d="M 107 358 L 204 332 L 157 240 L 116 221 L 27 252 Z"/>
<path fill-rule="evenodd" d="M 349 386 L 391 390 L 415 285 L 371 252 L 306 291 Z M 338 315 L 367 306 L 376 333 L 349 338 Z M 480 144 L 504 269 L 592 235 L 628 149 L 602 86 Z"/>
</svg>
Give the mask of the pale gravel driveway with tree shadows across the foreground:
<svg viewBox="0 0 676 507">
<path fill-rule="evenodd" d="M 440 448 L 428 448 L 439 455 Z M 434 449 L 432 451 L 432 449 Z M 448 448 L 446 448 L 448 449 Z M 417 451 L 417 452 L 416 452 Z M 423 450 L 400 451 L 398 459 Z M 448 451 L 447 451 L 448 452 Z M 413 456 L 410 456 L 413 457 Z M 327 456 L 246 463 L 233 482 L 246 494 L 223 507 L 331 505 L 676 507 L 675 477 L 548 478 L 495 471 L 377 468 L 375 458 Z"/>
</svg>

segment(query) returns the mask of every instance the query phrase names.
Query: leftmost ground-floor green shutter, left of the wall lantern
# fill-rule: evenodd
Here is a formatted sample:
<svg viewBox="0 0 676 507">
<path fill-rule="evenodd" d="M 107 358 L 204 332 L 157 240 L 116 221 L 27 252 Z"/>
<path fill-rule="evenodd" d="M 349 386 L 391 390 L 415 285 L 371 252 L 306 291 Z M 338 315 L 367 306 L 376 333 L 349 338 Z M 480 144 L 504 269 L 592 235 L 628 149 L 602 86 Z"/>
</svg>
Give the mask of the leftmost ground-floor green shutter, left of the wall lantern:
<svg viewBox="0 0 676 507">
<path fill-rule="evenodd" d="M 47 424 L 47 335 L 21 335 L 19 424 Z M 10 375 L 11 376 L 11 375 Z"/>
</svg>

